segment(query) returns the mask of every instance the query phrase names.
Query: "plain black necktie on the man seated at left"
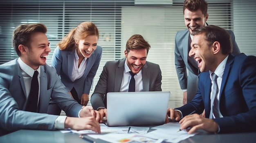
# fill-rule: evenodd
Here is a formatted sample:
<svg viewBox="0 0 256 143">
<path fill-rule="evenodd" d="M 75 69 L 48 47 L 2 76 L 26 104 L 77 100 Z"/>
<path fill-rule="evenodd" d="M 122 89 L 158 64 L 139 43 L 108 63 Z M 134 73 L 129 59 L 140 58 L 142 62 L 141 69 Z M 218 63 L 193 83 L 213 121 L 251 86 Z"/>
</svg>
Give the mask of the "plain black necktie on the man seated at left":
<svg viewBox="0 0 256 143">
<path fill-rule="evenodd" d="M 37 112 L 37 102 L 38 102 L 38 90 L 39 84 L 37 79 L 38 72 L 35 70 L 31 81 L 31 88 L 29 92 L 29 97 L 27 99 L 26 111 Z"/>
</svg>

